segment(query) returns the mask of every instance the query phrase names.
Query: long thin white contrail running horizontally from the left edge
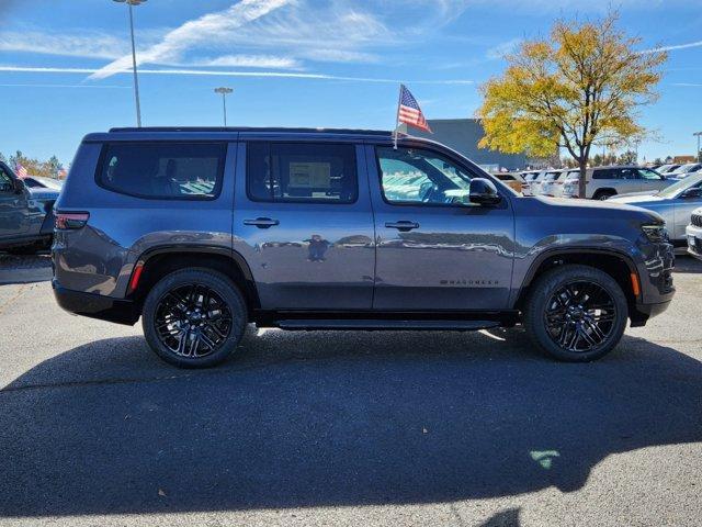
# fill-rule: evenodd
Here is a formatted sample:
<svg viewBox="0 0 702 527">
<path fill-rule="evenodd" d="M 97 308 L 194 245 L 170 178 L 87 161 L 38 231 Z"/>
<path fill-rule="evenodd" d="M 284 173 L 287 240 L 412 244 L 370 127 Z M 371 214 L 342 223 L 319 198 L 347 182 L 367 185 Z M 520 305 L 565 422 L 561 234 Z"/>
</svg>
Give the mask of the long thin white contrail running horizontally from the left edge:
<svg viewBox="0 0 702 527">
<path fill-rule="evenodd" d="M 93 68 L 64 68 L 64 67 L 30 67 L 30 66 L 0 66 L 0 71 L 26 72 L 26 74 L 82 74 L 93 75 L 99 69 Z M 131 75 L 128 70 L 115 71 L 113 75 Z M 292 71 L 224 71 L 210 69 L 139 69 L 139 75 L 172 75 L 172 76 L 213 76 L 213 77 L 251 77 L 251 78 L 286 78 L 308 80 L 342 80 L 350 82 L 382 82 L 382 83 L 412 83 L 412 85 L 473 85 L 471 79 L 435 79 L 435 80 L 409 80 L 389 79 L 378 77 L 348 77 L 328 74 L 304 74 Z"/>
</svg>

